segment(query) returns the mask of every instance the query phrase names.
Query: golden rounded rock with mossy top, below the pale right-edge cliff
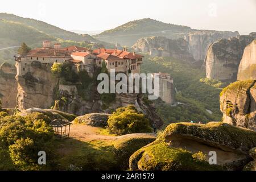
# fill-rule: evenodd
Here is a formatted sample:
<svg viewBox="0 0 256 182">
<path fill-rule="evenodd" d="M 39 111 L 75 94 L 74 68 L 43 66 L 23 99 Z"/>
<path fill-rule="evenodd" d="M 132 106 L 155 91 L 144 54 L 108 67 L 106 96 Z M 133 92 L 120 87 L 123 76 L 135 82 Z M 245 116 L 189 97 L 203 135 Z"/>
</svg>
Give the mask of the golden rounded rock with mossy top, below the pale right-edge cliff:
<svg viewBox="0 0 256 182">
<path fill-rule="evenodd" d="M 222 90 L 223 122 L 256 131 L 256 85 L 254 80 L 237 81 Z"/>
</svg>

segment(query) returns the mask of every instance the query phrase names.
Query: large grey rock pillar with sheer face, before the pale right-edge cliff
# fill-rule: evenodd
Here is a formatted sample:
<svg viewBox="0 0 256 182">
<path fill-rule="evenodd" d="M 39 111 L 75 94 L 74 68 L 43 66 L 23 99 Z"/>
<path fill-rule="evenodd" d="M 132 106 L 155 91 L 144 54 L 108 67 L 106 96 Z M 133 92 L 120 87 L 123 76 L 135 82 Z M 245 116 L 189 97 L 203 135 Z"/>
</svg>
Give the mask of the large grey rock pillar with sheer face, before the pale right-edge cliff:
<svg viewBox="0 0 256 182">
<path fill-rule="evenodd" d="M 204 60 L 207 78 L 236 81 L 243 50 L 254 39 L 253 36 L 241 35 L 211 44 Z"/>
</svg>

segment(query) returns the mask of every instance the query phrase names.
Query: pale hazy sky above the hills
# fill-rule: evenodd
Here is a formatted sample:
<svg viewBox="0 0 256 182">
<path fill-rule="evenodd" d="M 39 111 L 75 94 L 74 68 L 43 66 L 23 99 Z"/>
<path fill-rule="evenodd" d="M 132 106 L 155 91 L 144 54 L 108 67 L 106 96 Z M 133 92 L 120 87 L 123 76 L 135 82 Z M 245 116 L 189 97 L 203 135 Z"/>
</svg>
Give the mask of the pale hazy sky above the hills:
<svg viewBox="0 0 256 182">
<path fill-rule="evenodd" d="M 1 2 L 0 12 L 66 30 L 107 30 L 152 18 L 197 29 L 256 31 L 256 0 L 7 0 Z"/>
</svg>

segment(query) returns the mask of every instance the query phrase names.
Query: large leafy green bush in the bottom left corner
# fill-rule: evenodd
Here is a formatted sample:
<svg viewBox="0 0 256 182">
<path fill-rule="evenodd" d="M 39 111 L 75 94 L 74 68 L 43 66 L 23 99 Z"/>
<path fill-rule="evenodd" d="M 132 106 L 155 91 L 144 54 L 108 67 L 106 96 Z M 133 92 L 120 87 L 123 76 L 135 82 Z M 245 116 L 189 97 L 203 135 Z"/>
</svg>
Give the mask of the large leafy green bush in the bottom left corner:
<svg viewBox="0 0 256 182">
<path fill-rule="evenodd" d="M 51 165 L 52 160 L 48 166 L 37 165 L 39 151 L 47 151 L 47 158 L 52 157 L 53 130 L 49 121 L 49 117 L 42 113 L 0 118 L 0 162 L 7 163 L 6 167 L 0 165 L 0 170 L 35 170 Z"/>
</svg>

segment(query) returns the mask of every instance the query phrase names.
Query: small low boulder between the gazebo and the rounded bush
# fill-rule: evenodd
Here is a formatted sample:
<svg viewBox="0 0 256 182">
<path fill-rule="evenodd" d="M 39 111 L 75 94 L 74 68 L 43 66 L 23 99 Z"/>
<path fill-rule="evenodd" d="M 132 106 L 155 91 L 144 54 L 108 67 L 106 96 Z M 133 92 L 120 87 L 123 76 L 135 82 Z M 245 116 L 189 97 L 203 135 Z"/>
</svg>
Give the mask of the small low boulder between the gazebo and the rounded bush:
<svg viewBox="0 0 256 182">
<path fill-rule="evenodd" d="M 105 113 L 90 113 L 77 117 L 73 122 L 94 127 L 106 127 L 108 126 L 109 116 L 110 114 Z"/>
</svg>

